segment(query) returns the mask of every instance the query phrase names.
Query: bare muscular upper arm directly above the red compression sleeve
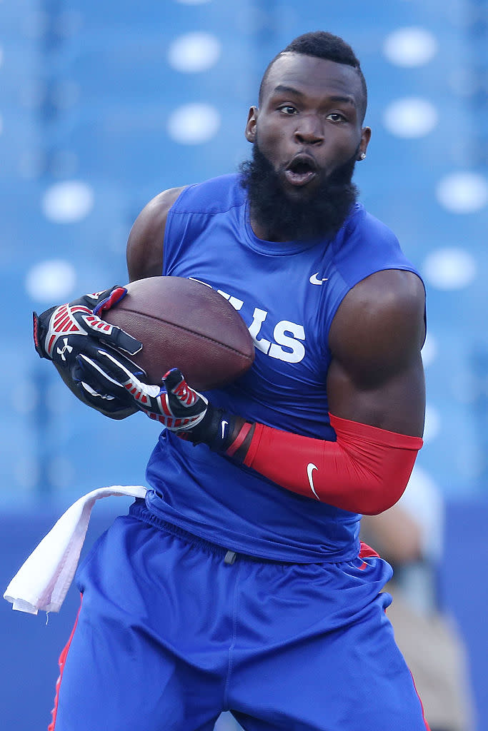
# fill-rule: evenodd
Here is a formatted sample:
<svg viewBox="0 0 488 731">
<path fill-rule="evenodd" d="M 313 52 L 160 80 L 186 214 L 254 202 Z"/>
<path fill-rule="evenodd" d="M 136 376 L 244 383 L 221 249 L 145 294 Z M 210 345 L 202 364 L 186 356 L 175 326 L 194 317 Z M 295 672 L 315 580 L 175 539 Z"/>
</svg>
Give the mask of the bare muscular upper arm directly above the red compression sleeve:
<svg viewBox="0 0 488 731">
<path fill-rule="evenodd" d="M 398 270 L 368 280 L 351 290 L 331 326 L 329 410 L 351 421 L 421 436 L 423 286 L 416 275 Z"/>
</svg>

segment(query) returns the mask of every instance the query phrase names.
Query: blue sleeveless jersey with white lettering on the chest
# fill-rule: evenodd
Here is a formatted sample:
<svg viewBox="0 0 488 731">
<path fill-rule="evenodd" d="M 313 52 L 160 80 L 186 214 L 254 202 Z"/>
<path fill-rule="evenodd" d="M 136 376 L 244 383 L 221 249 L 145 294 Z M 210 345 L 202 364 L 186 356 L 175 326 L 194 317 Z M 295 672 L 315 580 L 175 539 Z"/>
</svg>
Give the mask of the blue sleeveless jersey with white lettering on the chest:
<svg viewBox="0 0 488 731">
<path fill-rule="evenodd" d="M 356 204 L 332 240 L 260 240 L 239 177 L 224 175 L 184 189 L 168 213 L 164 246 L 162 273 L 217 289 L 255 342 L 250 371 L 208 393 L 211 403 L 334 441 L 329 328 L 361 279 L 384 269 L 415 272 L 391 230 Z M 151 513 L 237 553 L 301 563 L 358 555 L 360 515 L 285 490 L 169 431 L 159 436 L 146 477 Z"/>
</svg>

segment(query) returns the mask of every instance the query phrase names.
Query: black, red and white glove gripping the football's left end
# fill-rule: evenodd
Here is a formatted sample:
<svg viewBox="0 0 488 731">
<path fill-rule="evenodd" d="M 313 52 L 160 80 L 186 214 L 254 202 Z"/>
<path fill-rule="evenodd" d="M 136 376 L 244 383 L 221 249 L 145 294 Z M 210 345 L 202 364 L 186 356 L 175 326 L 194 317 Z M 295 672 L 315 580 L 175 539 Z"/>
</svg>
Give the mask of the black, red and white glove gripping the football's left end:
<svg viewBox="0 0 488 731">
<path fill-rule="evenodd" d="M 79 300 L 51 307 L 40 315 L 33 313 L 34 346 L 42 358 L 52 360 L 64 383 L 80 401 L 113 419 L 123 419 L 138 409 L 127 391 L 116 382 L 93 377 L 83 379 L 80 355 L 97 357 L 99 352 L 117 349 L 117 357 L 140 378 L 144 371 L 123 355 L 135 355 L 142 344 L 120 327 L 110 325 L 98 314 L 109 310 L 127 294 L 124 287 L 84 295 Z"/>
</svg>

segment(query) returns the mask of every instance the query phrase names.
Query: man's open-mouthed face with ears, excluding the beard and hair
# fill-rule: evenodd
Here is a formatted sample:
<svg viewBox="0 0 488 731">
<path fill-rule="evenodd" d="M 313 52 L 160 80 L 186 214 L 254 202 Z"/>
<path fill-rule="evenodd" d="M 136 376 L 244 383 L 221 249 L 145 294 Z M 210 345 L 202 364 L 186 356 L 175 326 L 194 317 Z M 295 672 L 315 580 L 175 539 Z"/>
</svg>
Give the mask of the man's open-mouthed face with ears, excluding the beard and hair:
<svg viewBox="0 0 488 731">
<path fill-rule="evenodd" d="M 274 62 L 246 137 L 277 173 L 290 200 L 307 200 L 337 168 L 366 152 L 362 89 L 356 69 L 315 56 L 285 53 Z"/>
</svg>

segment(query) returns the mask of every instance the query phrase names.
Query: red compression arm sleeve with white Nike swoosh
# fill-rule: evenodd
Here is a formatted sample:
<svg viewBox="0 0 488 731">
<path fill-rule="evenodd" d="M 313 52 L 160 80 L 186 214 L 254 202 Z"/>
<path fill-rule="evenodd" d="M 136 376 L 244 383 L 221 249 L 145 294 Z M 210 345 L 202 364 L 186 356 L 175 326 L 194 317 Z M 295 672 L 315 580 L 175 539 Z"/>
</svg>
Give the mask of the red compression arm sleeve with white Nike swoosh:
<svg viewBox="0 0 488 731">
<path fill-rule="evenodd" d="M 422 439 L 333 414 L 330 419 L 337 442 L 256 424 L 244 464 L 287 490 L 342 510 L 387 510 L 407 486 Z"/>
</svg>

